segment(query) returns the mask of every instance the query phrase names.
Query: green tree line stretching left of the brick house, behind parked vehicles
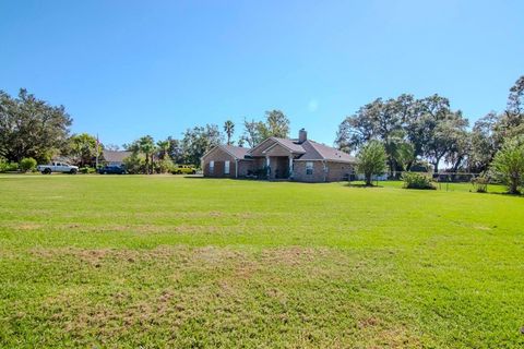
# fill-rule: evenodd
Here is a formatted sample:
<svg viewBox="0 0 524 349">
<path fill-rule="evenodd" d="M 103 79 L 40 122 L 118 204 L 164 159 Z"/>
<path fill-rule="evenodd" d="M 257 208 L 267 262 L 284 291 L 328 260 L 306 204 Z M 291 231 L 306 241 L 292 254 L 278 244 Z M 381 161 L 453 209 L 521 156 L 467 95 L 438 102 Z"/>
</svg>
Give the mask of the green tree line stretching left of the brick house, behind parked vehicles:
<svg viewBox="0 0 524 349">
<path fill-rule="evenodd" d="M 22 88 L 16 97 L 0 91 L 0 171 L 31 169 L 32 164 L 46 164 L 67 157 L 80 167 L 94 167 L 103 151 L 120 151 L 117 145 L 99 143 L 91 134 L 71 134 L 73 119 L 63 106 L 51 106 Z M 198 125 L 186 130 L 181 137 L 155 141 L 144 135 L 129 144 L 126 163 L 131 172 L 167 172 L 175 164 L 199 166 L 204 153 L 217 144 L 235 144 L 235 123 Z M 287 137 L 289 119 L 279 110 L 266 111 L 265 120 L 245 120 L 239 146 L 253 146 L 269 136 Z M 19 166 L 26 164 L 23 167 Z"/>
</svg>

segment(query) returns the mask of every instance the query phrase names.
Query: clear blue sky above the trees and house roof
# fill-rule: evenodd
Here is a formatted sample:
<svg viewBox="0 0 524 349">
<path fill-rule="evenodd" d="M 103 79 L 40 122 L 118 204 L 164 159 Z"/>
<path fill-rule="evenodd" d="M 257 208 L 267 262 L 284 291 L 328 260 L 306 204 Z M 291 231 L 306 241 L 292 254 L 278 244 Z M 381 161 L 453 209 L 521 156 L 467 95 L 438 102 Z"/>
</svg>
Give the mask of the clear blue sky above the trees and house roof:
<svg viewBox="0 0 524 349">
<path fill-rule="evenodd" d="M 524 74 L 524 1 L 0 1 L 0 89 L 122 144 L 282 109 L 332 144 L 377 97 L 475 120 Z"/>
</svg>

